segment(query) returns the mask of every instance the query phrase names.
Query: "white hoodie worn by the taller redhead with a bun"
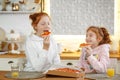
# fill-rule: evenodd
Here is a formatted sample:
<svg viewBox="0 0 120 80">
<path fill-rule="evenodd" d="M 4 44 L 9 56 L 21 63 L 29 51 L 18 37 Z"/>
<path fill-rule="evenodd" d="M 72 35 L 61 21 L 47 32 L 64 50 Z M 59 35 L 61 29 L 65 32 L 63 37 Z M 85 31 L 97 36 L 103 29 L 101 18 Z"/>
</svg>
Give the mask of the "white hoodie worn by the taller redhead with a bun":
<svg viewBox="0 0 120 80">
<path fill-rule="evenodd" d="M 53 64 L 60 63 L 60 49 L 50 36 L 49 50 L 43 49 L 43 38 L 31 35 L 25 44 L 27 64 L 25 71 L 47 71 Z"/>
</svg>

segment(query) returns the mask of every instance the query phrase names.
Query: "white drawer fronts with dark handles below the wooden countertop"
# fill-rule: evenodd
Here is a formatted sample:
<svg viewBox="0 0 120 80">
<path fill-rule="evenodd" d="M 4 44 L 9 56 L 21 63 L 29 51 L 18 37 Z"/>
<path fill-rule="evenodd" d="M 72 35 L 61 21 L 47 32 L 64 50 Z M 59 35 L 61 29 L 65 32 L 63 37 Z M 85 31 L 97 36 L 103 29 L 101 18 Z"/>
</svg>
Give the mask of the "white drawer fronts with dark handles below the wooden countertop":
<svg viewBox="0 0 120 80">
<path fill-rule="evenodd" d="M 11 65 L 8 64 L 9 61 L 18 63 L 20 70 L 23 70 L 24 64 L 26 63 L 25 58 L 0 58 L 0 70 L 10 71 Z M 61 60 L 63 66 L 74 67 L 77 64 L 77 60 Z"/>
</svg>

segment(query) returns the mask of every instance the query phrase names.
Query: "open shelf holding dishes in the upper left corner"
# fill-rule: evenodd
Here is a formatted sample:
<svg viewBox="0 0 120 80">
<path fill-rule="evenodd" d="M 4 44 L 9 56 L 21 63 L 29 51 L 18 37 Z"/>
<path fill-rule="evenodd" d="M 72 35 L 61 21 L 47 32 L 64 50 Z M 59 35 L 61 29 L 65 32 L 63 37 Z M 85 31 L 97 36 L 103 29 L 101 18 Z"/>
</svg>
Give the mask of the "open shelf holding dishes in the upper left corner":
<svg viewBox="0 0 120 80">
<path fill-rule="evenodd" d="M 44 0 L 1 0 L 0 13 L 30 13 L 43 11 Z"/>
</svg>

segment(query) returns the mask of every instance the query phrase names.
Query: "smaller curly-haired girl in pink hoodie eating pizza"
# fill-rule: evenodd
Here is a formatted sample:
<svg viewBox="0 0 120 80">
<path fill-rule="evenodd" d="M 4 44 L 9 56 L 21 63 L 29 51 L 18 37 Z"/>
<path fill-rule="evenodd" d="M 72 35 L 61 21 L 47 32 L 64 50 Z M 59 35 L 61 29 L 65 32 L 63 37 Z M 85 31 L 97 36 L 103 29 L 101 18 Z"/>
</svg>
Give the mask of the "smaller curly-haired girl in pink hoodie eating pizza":
<svg viewBox="0 0 120 80">
<path fill-rule="evenodd" d="M 90 26 L 86 33 L 86 43 L 77 67 L 84 69 L 85 73 L 105 73 L 109 66 L 110 37 L 104 27 Z"/>
</svg>

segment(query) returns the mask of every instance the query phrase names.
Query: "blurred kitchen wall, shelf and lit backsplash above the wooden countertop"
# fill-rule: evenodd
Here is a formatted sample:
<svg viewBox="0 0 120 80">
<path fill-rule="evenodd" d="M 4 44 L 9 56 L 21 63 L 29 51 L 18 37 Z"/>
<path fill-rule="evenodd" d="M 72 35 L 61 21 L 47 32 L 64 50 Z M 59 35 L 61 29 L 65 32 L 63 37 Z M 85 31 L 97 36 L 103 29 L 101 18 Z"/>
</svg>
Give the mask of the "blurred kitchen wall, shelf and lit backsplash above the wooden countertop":
<svg viewBox="0 0 120 80">
<path fill-rule="evenodd" d="M 120 0 L 0 0 L 0 41 L 9 43 L 12 34 L 24 51 L 26 37 L 34 32 L 29 15 L 40 11 L 51 16 L 52 34 L 63 51 L 78 51 L 91 25 L 106 27 L 111 51 L 120 51 Z"/>
</svg>

